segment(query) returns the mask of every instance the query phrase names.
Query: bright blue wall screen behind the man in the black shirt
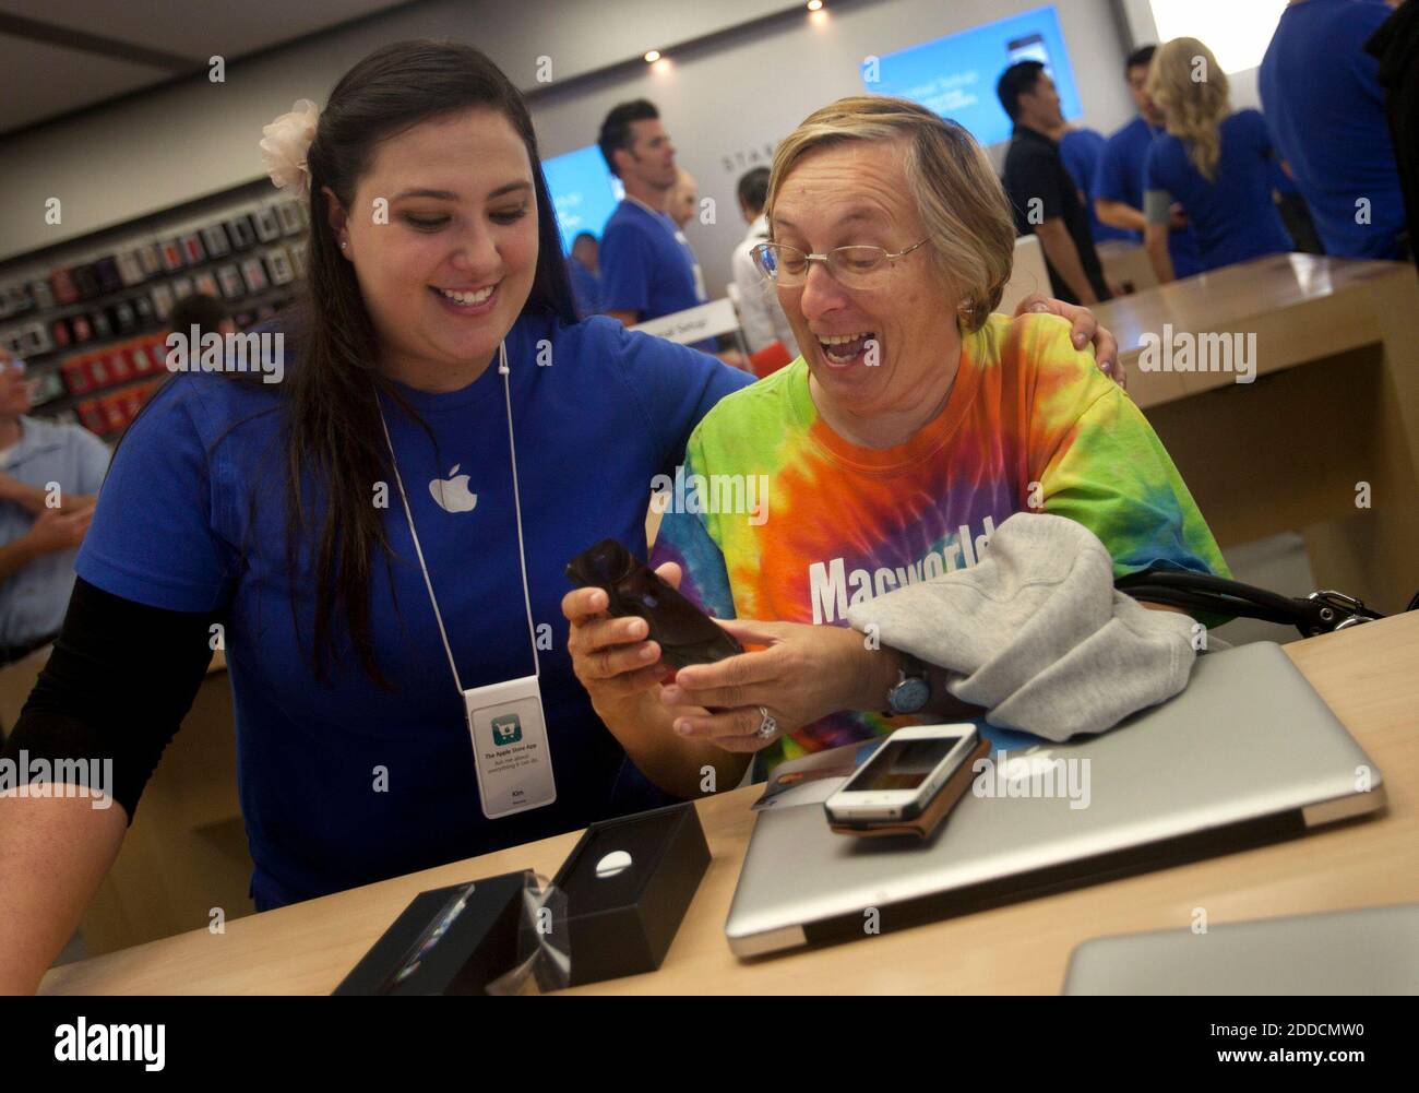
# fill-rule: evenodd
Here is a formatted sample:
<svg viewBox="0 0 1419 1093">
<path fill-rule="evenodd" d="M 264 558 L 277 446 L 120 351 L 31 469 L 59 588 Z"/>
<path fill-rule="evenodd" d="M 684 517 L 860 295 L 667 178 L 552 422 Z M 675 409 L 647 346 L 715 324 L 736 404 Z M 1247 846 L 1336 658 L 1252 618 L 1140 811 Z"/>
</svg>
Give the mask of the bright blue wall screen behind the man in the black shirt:
<svg viewBox="0 0 1419 1093">
<path fill-rule="evenodd" d="M 1083 114 L 1064 33 L 1053 7 L 1037 7 L 982 27 L 948 34 L 863 62 L 863 84 L 876 95 L 920 102 L 959 122 L 982 145 L 1010 139 L 1010 119 L 995 95 L 1000 74 L 1017 61 L 1040 61 L 1060 92 L 1066 118 Z"/>
</svg>

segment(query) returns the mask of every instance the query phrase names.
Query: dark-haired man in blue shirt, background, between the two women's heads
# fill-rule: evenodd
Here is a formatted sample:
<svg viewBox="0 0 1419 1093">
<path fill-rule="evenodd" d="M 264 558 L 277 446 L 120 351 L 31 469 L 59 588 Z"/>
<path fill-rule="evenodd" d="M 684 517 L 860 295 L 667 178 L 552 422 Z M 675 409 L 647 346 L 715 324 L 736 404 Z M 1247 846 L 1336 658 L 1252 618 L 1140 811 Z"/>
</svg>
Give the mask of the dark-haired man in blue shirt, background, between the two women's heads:
<svg viewBox="0 0 1419 1093">
<path fill-rule="evenodd" d="M 626 196 L 602 229 L 602 305 L 626 326 L 674 315 L 710 300 L 684 233 L 666 212 L 678 182 L 675 146 L 648 99 L 606 115 L 596 143 Z M 707 353 L 715 342 L 695 344 Z"/>
</svg>

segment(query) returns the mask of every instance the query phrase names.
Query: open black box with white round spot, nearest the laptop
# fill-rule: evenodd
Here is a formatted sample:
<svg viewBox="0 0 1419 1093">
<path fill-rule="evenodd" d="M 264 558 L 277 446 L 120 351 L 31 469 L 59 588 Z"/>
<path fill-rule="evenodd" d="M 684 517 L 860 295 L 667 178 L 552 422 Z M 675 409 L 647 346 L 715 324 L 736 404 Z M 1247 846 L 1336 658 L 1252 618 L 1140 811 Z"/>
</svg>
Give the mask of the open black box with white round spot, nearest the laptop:
<svg viewBox="0 0 1419 1093">
<path fill-rule="evenodd" d="M 566 897 L 553 928 L 568 931 L 568 985 L 658 970 L 708 866 L 692 803 L 587 828 L 552 881 Z"/>
</svg>

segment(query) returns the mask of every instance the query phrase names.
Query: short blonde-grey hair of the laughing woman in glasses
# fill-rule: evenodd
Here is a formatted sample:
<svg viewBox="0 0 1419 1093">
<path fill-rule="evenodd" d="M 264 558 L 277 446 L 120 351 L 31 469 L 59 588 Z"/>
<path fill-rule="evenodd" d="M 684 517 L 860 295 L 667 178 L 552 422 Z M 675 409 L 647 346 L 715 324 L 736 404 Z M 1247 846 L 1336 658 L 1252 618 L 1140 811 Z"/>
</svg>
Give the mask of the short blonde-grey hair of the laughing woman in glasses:
<svg viewBox="0 0 1419 1093">
<path fill-rule="evenodd" d="M 809 152 L 849 141 L 905 142 L 907 192 L 927 227 L 932 261 L 959 294 L 965 329 L 979 331 L 1010 280 L 1015 219 L 990 160 L 971 133 L 915 102 L 853 95 L 805 118 L 773 152 L 763 206 L 771 230 L 779 189 L 793 166 Z"/>
</svg>

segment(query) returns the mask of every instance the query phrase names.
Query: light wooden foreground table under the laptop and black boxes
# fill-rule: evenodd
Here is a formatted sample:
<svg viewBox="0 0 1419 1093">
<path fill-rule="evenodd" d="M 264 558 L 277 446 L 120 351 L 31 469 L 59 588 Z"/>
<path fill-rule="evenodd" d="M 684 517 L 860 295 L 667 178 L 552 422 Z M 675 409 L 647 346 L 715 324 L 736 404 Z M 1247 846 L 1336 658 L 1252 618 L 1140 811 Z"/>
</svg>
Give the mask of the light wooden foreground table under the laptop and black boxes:
<svg viewBox="0 0 1419 1093">
<path fill-rule="evenodd" d="M 1379 767 L 1386 812 L 1288 843 L 881 934 L 741 962 L 724 937 L 758 786 L 701 801 L 714 860 L 661 970 L 587 994 L 1054 994 L 1091 937 L 1419 900 L 1419 612 L 1287 646 Z M 532 867 L 579 832 L 282 907 L 50 971 L 45 994 L 326 994 L 416 893 Z"/>
</svg>

